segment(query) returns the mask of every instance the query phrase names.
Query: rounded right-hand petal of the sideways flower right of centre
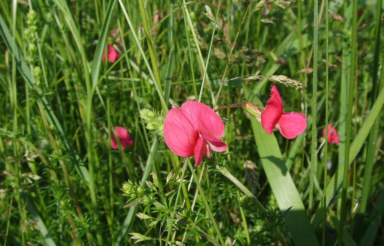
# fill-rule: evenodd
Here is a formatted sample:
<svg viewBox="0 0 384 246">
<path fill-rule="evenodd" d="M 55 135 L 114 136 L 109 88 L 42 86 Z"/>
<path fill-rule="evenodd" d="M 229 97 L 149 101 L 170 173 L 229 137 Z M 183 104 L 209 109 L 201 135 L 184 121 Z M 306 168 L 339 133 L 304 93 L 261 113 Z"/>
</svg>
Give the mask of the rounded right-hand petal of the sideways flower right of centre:
<svg viewBox="0 0 384 246">
<path fill-rule="evenodd" d="M 284 113 L 279 120 L 280 133 L 287 139 L 294 139 L 307 128 L 306 117 L 301 113 Z"/>
</svg>

